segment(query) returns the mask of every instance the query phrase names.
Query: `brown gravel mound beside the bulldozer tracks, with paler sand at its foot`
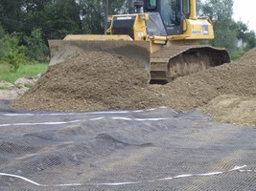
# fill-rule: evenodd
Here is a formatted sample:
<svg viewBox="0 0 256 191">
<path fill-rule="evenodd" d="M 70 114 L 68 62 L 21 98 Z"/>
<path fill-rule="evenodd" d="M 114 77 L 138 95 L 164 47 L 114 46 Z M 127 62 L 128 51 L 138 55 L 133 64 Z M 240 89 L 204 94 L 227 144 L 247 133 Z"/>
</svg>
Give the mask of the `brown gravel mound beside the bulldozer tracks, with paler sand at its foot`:
<svg viewBox="0 0 256 191">
<path fill-rule="evenodd" d="M 221 122 L 256 125 L 256 50 L 236 62 L 179 77 L 164 88 L 155 86 L 153 91 L 175 110 L 199 108 Z"/>
</svg>

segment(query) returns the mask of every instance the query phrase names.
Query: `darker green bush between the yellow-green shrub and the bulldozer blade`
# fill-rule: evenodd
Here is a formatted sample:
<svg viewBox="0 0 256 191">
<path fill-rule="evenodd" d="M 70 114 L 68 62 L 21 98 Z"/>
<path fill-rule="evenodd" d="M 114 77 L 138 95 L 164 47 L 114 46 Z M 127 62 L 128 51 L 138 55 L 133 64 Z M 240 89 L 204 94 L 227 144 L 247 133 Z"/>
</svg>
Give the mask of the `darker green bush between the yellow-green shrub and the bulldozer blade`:
<svg viewBox="0 0 256 191">
<path fill-rule="evenodd" d="M 46 61 L 49 50 L 42 38 L 41 29 L 35 29 L 30 36 L 25 36 L 24 40 L 27 47 L 26 55 L 31 60 Z"/>
</svg>

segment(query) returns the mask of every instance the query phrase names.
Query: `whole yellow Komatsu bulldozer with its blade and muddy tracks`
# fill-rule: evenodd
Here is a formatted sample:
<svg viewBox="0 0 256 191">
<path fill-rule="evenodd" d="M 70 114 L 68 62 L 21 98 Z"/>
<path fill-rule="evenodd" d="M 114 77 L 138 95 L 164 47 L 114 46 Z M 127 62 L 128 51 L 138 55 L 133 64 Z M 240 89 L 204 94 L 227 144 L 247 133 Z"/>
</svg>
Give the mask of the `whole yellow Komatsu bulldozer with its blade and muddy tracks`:
<svg viewBox="0 0 256 191">
<path fill-rule="evenodd" d="M 49 40 L 50 65 L 86 52 L 117 53 L 143 62 L 151 83 L 166 83 L 230 62 L 226 50 L 201 45 L 214 38 L 214 31 L 209 17 L 198 17 L 197 0 L 130 0 L 129 4 L 130 13 L 111 16 L 106 34 Z"/>
</svg>

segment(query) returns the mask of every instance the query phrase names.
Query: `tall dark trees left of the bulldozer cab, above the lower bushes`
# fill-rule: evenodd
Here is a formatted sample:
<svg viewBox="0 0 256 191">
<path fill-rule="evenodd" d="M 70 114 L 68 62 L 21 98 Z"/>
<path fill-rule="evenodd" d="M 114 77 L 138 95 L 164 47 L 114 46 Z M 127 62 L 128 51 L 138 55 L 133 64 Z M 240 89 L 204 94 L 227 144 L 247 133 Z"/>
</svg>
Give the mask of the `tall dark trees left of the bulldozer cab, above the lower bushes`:
<svg viewBox="0 0 256 191">
<path fill-rule="evenodd" d="M 109 14 L 124 13 L 128 0 L 108 1 Z M 2 16 L 3 15 L 3 16 Z M 104 33 L 104 0 L 1 0 L 0 22 L 9 33 L 42 29 L 45 42 L 69 33 Z"/>
</svg>

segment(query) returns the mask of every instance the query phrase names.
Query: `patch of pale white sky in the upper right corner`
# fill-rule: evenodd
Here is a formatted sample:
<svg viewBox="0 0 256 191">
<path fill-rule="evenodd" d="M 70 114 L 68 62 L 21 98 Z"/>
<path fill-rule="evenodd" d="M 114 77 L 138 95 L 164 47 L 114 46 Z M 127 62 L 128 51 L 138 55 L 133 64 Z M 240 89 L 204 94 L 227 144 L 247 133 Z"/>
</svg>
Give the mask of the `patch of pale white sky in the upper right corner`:
<svg viewBox="0 0 256 191">
<path fill-rule="evenodd" d="M 256 1 L 255 0 L 233 0 L 233 18 L 242 20 L 249 30 L 256 32 Z"/>
</svg>

